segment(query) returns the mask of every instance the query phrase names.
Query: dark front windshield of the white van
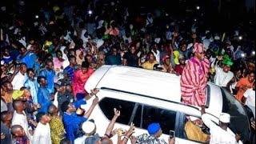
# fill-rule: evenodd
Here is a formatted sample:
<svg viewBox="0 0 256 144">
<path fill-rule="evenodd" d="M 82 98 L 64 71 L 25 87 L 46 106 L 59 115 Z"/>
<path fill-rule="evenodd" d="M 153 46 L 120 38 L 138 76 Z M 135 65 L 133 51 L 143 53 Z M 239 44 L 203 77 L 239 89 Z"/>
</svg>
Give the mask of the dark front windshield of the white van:
<svg viewBox="0 0 256 144">
<path fill-rule="evenodd" d="M 223 98 L 222 112 L 230 114 L 230 129 L 234 134 L 241 134 L 243 142 L 249 141 L 250 124 L 244 107 L 227 90 L 223 88 L 221 90 Z"/>
</svg>

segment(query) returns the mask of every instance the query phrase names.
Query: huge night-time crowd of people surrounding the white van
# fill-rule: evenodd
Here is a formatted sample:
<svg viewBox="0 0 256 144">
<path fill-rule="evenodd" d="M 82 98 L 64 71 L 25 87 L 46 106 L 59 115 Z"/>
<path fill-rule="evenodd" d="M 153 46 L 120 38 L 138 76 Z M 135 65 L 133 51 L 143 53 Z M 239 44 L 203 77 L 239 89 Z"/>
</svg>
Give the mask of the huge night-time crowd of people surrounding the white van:
<svg viewBox="0 0 256 144">
<path fill-rule="evenodd" d="M 158 123 L 137 138 L 133 124 L 113 130 L 118 110 L 106 134 L 95 134 L 98 90 L 84 85 L 103 65 L 181 76 L 182 102 L 195 106 L 205 106 L 206 82 L 214 82 L 255 109 L 255 44 L 246 23 L 218 31 L 158 10 L 134 14 L 118 1 L 47 1 L 27 18 L 26 5 L 1 7 L 1 143 L 111 143 L 113 134 L 118 143 L 167 143 Z"/>
</svg>

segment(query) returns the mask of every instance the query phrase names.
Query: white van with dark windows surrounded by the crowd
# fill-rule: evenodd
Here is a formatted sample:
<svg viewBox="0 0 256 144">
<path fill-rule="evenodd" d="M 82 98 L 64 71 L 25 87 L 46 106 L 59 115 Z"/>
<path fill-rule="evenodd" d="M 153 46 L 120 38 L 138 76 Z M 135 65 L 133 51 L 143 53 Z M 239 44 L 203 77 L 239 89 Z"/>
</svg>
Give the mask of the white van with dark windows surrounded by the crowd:
<svg viewBox="0 0 256 144">
<path fill-rule="evenodd" d="M 86 91 L 94 88 L 100 89 L 97 94 L 99 103 L 90 118 L 94 119 L 99 135 L 104 135 L 116 107 L 121 110 L 121 116 L 114 129 L 128 130 L 130 122 L 134 122 L 134 135 L 138 136 L 147 133 L 146 127 L 151 122 L 159 122 L 161 138 L 166 142 L 170 130 L 174 130 L 176 143 L 200 143 L 186 138 L 186 115 L 200 118 L 201 112 L 199 107 L 181 102 L 180 77 L 177 75 L 129 66 L 102 66 L 86 82 Z M 250 141 L 250 122 L 243 106 L 213 83 L 208 83 L 206 91 L 206 113 L 210 118 L 218 124 L 220 113 L 230 114 L 230 130 L 242 134 L 243 142 Z M 87 102 L 87 109 L 92 99 Z M 114 143 L 116 137 L 112 138 Z"/>
</svg>

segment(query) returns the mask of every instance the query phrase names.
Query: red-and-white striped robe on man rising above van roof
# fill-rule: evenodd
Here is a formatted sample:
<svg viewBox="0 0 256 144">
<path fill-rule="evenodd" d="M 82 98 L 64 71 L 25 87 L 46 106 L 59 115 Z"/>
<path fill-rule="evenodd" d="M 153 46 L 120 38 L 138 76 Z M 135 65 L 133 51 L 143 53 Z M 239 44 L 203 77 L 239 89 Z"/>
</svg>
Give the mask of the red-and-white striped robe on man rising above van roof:
<svg viewBox="0 0 256 144">
<path fill-rule="evenodd" d="M 206 105 L 206 83 L 210 61 L 204 58 L 201 62 L 190 58 L 181 77 L 182 102 L 194 106 Z"/>
</svg>

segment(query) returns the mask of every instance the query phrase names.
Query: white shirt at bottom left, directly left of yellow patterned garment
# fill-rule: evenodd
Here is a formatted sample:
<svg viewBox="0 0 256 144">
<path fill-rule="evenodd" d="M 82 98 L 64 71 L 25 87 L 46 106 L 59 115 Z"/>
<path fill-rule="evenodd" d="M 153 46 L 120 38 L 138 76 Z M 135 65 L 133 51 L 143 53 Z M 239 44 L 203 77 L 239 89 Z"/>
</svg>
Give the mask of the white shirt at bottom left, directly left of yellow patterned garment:
<svg viewBox="0 0 256 144">
<path fill-rule="evenodd" d="M 38 126 L 34 130 L 34 135 L 31 143 L 32 144 L 39 144 L 39 143 L 51 144 L 49 123 L 46 123 L 46 125 L 43 125 L 41 122 L 38 122 Z"/>
</svg>

